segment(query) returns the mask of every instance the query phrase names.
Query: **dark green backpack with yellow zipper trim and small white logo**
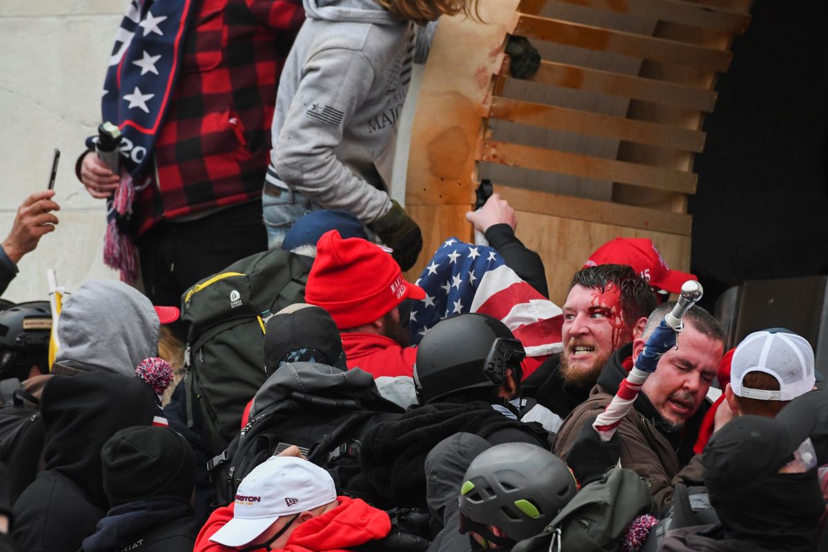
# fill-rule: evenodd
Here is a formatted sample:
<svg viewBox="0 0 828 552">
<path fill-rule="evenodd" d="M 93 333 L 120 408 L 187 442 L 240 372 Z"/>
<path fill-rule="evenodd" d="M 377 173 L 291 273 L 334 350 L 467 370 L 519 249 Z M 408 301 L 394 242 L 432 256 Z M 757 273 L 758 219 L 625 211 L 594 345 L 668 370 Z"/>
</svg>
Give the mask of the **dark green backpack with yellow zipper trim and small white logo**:
<svg viewBox="0 0 828 552">
<path fill-rule="evenodd" d="M 281 250 L 257 253 L 181 296 L 181 319 L 190 323 L 187 425 L 205 436 L 212 454 L 238 434 L 244 406 L 265 381 L 267 318 L 305 299 L 310 263 Z"/>
</svg>

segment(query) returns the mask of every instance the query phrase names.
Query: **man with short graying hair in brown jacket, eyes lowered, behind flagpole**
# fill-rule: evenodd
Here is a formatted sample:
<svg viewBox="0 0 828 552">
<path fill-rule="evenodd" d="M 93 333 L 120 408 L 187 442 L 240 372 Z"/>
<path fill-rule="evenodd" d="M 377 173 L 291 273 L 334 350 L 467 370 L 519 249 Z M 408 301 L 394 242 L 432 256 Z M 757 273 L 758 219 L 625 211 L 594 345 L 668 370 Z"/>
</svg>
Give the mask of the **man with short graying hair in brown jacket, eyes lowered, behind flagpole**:
<svg viewBox="0 0 828 552">
<path fill-rule="evenodd" d="M 558 431 L 553 449 L 558 457 L 566 460 L 581 428 L 591 425 L 612 401 L 627 377 L 628 363 L 632 366 L 631 361 L 643 352 L 647 338 L 674 305 L 659 305 L 647 319 L 643 333 L 609 357 L 589 398 L 572 410 Z M 621 467 L 647 481 L 653 502 L 662 513 L 672 503 L 676 482 L 701 482 L 700 455 L 694 456 L 693 444 L 709 408 L 705 396 L 723 353 L 724 333 L 719 323 L 698 305 L 688 310 L 676 347 L 659 358 L 656 371 L 644 382 L 633 408 L 618 426 L 623 441 Z"/>
</svg>

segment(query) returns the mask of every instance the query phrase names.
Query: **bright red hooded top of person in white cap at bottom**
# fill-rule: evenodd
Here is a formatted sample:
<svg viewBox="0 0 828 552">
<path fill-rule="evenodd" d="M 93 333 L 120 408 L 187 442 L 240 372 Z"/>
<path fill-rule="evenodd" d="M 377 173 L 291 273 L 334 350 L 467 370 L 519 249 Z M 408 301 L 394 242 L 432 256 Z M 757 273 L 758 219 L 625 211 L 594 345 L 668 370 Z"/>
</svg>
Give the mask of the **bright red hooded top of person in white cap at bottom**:
<svg viewBox="0 0 828 552">
<path fill-rule="evenodd" d="M 288 538 L 286 552 L 338 552 L 382 539 L 391 531 L 388 514 L 368 506 L 359 498 L 337 497 L 339 506 L 300 524 Z M 214 511 L 199 531 L 193 552 L 233 552 L 238 550 L 209 540 L 233 519 L 233 504 Z M 264 549 L 262 549 L 264 552 Z"/>
</svg>

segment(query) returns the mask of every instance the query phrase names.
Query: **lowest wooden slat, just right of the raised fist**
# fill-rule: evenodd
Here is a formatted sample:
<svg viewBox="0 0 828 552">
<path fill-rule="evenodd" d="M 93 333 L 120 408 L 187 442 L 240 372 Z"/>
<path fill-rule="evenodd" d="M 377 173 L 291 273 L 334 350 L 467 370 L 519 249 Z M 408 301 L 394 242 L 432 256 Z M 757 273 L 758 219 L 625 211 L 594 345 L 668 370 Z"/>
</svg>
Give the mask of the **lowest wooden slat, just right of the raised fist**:
<svg viewBox="0 0 828 552">
<path fill-rule="evenodd" d="M 689 236 L 692 217 L 658 209 L 644 209 L 608 201 L 575 198 L 571 195 L 546 194 L 495 185 L 494 191 L 506 199 L 512 208 L 527 213 L 549 214 L 575 218 L 594 223 L 615 224 L 657 232 Z"/>
</svg>

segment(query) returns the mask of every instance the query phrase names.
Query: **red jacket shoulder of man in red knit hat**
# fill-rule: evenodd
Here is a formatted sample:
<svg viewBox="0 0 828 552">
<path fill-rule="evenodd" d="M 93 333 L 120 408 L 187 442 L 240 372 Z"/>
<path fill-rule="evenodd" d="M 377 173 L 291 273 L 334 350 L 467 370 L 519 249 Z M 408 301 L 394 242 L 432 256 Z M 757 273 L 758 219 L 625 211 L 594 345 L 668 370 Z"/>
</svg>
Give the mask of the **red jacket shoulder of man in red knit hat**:
<svg viewBox="0 0 828 552">
<path fill-rule="evenodd" d="M 373 377 L 414 375 L 416 347 L 400 347 L 384 335 L 343 332 L 342 348 L 349 369 L 359 367 Z"/>
</svg>

